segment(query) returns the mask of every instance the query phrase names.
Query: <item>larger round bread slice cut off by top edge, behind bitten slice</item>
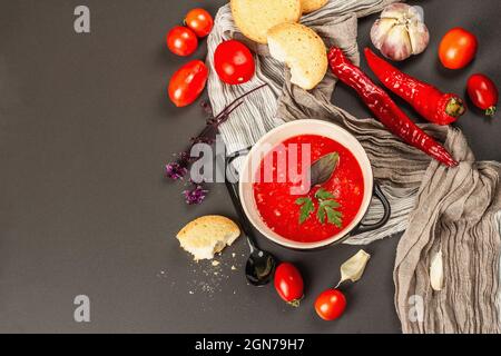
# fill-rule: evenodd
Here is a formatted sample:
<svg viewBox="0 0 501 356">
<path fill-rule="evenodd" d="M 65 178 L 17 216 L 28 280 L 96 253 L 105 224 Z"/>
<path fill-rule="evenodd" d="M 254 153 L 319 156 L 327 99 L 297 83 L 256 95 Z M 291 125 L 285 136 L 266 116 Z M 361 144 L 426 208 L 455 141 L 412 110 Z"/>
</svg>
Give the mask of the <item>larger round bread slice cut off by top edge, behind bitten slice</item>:
<svg viewBox="0 0 501 356">
<path fill-rule="evenodd" d="M 275 24 L 299 21 L 301 0 L 232 0 L 233 19 L 249 39 L 266 43 L 266 34 Z"/>
</svg>

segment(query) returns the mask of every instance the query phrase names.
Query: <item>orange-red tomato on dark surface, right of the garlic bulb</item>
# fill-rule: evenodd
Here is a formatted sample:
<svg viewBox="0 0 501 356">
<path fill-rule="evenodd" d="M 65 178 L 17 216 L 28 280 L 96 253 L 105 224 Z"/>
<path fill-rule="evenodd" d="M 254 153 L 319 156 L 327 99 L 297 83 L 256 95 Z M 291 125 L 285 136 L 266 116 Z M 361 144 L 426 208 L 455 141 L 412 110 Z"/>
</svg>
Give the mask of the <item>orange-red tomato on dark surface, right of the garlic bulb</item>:
<svg viewBox="0 0 501 356">
<path fill-rule="evenodd" d="M 439 58 L 445 68 L 460 69 L 466 67 L 475 57 L 477 48 L 477 37 L 458 27 L 450 30 L 442 38 L 439 47 Z"/>
</svg>

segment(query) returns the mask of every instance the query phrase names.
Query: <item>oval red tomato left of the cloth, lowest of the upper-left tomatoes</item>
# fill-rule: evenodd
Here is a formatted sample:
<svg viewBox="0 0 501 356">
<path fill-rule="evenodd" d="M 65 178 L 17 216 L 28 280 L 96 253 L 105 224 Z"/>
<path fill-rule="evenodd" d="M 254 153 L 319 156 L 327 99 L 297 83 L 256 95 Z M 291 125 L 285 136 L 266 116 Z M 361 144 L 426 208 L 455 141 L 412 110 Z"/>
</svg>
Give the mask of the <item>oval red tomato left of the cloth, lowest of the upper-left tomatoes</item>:
<svg viewBox="0 0 501 356">
<path fill-rule="evenodd" d="M 193 60 L 179 68 L 169 81 L 169 98 L 177 107 L 194 102 L 207 82 L 208 69 L 202 60 Z"/>
</svg>

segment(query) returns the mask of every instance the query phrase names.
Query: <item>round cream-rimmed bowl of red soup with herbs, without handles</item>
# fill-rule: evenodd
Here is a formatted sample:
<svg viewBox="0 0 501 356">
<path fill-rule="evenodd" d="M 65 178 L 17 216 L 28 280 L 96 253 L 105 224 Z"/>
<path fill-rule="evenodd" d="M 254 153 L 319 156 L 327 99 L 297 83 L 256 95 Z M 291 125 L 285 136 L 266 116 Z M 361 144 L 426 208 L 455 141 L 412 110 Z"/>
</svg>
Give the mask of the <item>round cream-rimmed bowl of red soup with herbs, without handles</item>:
<svg viewBox="0 0 501 356">
<path fill-rule="evenodd" d="M 292 121 L 267 132 L 248 152 L 239 177 L 242 206 L 253 226 L 295 249 L 347 237 L 373 192 L 363 147 L 346 130 L 322 120 Z"/>
</svg>

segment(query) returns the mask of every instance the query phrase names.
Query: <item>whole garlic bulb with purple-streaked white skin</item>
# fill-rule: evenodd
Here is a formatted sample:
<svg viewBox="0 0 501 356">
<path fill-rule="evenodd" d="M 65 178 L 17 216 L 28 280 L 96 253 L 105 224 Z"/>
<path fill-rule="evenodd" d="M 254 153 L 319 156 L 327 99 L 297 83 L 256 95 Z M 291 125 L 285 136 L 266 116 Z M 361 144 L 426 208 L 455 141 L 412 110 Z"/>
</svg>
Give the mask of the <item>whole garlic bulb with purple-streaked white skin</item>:
<svg viewBox="0 0 501 356">
<path fill-rule="evenodd" d="M 406 3 L 387 6 L 371 29 L 371 40 L 381 53 L 392 60 L 404 60 L 419 55 L 430 41 L 420 7 Z"/>
</svg>

